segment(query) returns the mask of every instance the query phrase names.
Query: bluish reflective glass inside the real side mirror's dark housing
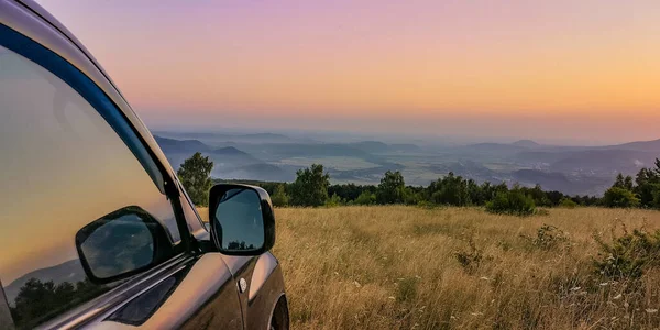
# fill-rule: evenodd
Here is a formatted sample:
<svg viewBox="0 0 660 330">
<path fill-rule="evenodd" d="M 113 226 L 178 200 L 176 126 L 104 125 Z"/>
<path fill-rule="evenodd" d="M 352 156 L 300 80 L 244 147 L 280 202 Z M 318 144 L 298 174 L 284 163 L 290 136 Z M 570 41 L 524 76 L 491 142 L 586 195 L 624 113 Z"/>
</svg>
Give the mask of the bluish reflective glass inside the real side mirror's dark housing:
<svg viewBox="0 0 660 330">
<path fill-rule="evenodd" d="M 226 251 L 258 250 L 264 245 L 264 219 L 258 194 L 249 188 L 229 189 L 216 209 L 220 246 Z"/>
</svg>

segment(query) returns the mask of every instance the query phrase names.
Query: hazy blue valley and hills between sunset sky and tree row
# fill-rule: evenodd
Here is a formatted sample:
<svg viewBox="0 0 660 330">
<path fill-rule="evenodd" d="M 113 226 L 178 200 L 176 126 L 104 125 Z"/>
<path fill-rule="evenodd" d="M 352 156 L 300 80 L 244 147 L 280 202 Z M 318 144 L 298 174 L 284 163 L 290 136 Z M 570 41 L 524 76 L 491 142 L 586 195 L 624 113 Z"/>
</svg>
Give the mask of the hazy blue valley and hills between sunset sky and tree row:
<svg viewBox="0 0 660 330">
<path fill-rule="evenodd" d="M 175 168 L 195 152 L 209 156 L 215 178 L 293 182 L 296 170 L 322 164 L 332 183 L 378 184 L 400 170 L 426 186 L 453 172 L 477 183 L 540 184 L 570 195 L 602 195 L 618 173 L 635 175 L 660 155 L 660 140 L 616 145 L 541 144 L 532 140 L 457 143 L 443 139 L 358 134 L 155 131 Z"/>
</svg>

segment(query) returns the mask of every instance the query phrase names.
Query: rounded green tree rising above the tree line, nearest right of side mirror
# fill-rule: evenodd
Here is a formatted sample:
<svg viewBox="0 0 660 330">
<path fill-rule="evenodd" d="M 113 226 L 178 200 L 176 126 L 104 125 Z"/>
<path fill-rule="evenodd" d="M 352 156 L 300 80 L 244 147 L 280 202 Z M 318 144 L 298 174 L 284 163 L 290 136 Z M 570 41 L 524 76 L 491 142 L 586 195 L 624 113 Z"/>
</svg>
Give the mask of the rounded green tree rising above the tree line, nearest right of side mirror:
<svg viewBox="0 0 660 330">
<path fill-rule="evenodd" d="M 311 164 L 309 168 L 298 169 L 296 175 L 296 180 L 290 185 L 290 202 L 312 207 L 326 205 L 330 176 L 323 173 L 323 165 Z"/>
</svg>

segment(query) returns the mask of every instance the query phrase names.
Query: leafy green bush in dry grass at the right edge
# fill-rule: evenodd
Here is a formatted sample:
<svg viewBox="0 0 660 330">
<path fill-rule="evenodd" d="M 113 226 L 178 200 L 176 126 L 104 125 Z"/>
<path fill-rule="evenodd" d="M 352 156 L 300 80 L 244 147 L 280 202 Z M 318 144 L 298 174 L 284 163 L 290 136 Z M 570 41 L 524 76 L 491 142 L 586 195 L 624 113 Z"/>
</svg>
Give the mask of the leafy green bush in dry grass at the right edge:
<svg viewBox="0 0 660 330">
<path fill-rule="evenodd" d="M 596 272 L 613 279 L 636 279 L 645 271 L 660 265 L 660 231 L 632 233 L 614 238 L 612 243 L 594 238 L 601 246 L 600 260 L 594 260 Z"/>
</svg>

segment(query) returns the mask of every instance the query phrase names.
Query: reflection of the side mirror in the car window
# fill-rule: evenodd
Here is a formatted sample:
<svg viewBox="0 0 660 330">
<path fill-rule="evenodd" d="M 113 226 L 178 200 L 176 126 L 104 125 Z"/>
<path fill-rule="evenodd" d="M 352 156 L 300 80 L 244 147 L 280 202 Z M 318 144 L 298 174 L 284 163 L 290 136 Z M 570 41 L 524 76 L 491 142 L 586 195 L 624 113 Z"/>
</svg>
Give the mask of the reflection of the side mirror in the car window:
<svg viewBox="0 0 660 330">
<path fill-rule="evenodd" d="M 131 276 L 173 252 L 163 226 L 136 206 L 122 208 L 80 229 L 76 248 L 85 273 L 98 284 Z"/>
</svg>

